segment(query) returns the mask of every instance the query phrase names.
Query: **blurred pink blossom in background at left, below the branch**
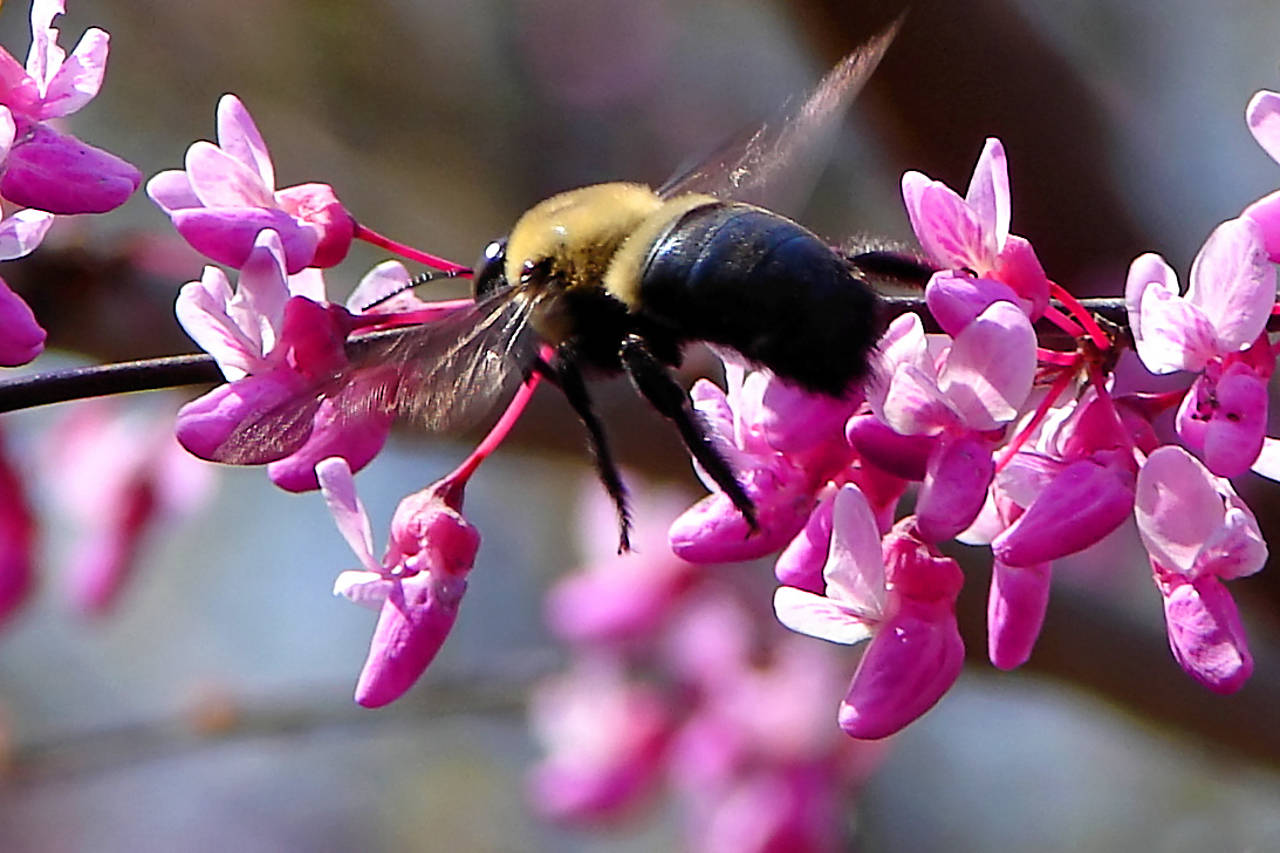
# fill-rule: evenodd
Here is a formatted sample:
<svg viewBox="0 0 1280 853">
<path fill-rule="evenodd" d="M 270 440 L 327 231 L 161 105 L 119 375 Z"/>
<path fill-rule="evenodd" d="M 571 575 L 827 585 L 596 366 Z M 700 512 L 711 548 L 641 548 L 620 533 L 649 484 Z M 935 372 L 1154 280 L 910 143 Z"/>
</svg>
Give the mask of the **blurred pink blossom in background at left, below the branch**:
<svg viewBox="0 0 1280 853">
<path fill-rule="evenodd" d="M 211 471 L 173 439 L 172 418 L 95 400 L 73 407 L 49 435 L 44 461 L 59 473 L 54 493 L 77 533 L 64 585 L 83 613 L 106 612 L 152 532 L 209 496 Z"/>
</svg>

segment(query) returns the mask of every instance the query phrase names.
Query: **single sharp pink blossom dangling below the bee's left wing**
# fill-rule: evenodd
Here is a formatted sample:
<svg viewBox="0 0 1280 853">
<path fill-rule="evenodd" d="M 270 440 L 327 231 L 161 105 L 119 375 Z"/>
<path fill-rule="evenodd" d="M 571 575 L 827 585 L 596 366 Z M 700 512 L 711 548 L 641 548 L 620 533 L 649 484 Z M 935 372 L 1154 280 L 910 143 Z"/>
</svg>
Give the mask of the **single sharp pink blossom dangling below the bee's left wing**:
<svg viewBox="0 0 1280 853">
<path fill-rule="evenodd" d="M 404 694 L 444 644 L 467 589 L 480 533 L 462 517 L 462 485 L 444 479 L 399 502 L 381 561 L 351 467 L 342 457 L 316 465 L 338 530 L 362 570 L 344 571 L 334 593 L 379 611 L 356 702 L 376 708 Z"/>
</svg>

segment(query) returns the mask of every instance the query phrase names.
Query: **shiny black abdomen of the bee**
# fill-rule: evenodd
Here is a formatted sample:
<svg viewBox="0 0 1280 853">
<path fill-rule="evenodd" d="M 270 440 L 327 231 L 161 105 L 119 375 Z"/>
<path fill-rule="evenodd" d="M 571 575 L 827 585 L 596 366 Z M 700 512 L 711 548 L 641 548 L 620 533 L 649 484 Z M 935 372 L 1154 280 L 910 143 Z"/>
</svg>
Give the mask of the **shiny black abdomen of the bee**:
<svg viewBox="0 0 1280 853">
<path fill-rule="evenodd" d="M 831 396 L 867 375 L 876 296 L 827 243 L 760 207 L 690 210 L 649 252 L 641 314 Z"/>
</svg>

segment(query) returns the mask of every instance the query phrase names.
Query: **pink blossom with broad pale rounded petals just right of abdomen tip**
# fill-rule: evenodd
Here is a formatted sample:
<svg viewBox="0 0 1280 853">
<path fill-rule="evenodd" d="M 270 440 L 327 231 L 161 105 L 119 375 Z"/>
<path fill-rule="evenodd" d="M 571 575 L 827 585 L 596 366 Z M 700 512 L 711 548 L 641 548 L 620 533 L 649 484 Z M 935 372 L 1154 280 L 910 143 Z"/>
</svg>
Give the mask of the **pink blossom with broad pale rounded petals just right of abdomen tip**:
<svg viewBox="0 0 1280 853">
<path fill-rule="evenodd" d="M 938 356 L 931 353 L 914 314 L 897 318 L 884 333 L 868 401 L 896 433 L 932 438 L 916 501 L 925 540 L 950 539 L 982 510 L 995 474 L 991 435 L 1018 416 L 1034 371 L 1036 333 L 1027 315 L 1006 301 L 986 307 Z M 870 462 L 901 466 L 873 455 L 879 447 L 858 444 Z"/>
</svg>

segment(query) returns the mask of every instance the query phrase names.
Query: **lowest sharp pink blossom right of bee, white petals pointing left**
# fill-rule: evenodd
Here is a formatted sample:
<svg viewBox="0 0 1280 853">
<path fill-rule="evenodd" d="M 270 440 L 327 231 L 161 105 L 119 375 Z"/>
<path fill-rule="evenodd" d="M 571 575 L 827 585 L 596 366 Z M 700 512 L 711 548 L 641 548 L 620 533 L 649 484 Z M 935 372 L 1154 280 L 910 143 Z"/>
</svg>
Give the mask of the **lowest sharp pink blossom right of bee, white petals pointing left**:
<svg viewBox="0 0 1280 853">
<path fill-rule="evenodd" d="M 867 498 L 854 485 L 836 496 L 826 594 L 780 587 L 773 598 L 787 628 L 835 643 L 870 639 L 840 726 L 883 738 L 928 711 L 960 675 L 964 643 L 955 601 L 960 566 L 937 555 L 904 519 L 881 546 Z"/>
</svg>

